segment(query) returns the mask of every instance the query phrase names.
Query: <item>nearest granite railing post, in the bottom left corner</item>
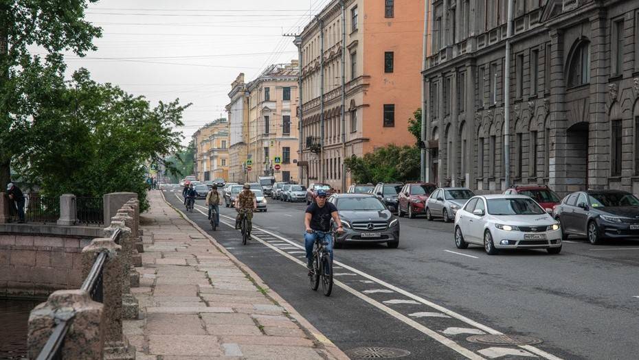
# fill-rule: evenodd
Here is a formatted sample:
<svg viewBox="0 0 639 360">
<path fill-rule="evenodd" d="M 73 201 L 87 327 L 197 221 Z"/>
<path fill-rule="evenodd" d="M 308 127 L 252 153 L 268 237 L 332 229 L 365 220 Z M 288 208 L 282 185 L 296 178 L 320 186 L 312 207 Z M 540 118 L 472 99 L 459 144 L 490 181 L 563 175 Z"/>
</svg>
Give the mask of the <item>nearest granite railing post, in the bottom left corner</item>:
<svg viewBox="0 0 639 360">
<path fill-rule="evenodd" d="M 49 295 L 29 316 L 27 348 L 36 359 L 60 320 L 69 320 L 62 352 L 67 359 L 102 359 L 104 307 L 83 290 L 58 290 Z M 72 320 L 71 320 L 72 318 Z M 72 324 L 72 325 L 71 325 Z"/>
</svg>

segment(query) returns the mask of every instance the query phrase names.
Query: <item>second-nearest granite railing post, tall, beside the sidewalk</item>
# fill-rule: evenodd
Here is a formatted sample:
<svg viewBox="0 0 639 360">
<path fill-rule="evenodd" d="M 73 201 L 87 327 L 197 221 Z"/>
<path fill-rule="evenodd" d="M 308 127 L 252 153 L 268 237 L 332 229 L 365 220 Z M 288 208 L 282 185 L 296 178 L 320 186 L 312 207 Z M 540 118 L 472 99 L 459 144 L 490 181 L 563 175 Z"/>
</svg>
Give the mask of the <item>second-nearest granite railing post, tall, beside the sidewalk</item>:
<svg viewBox="0 0 639 360">
<path fill-rule="evenodd" d="M 82 249 L 82 278 L 87 278 L 100 252 L 107 254 L 102 270 L 104 359 L 135 359 L 135 348 L 122 334 L 122 246 L 111 238 L 93 239 Z"/>
</svg>

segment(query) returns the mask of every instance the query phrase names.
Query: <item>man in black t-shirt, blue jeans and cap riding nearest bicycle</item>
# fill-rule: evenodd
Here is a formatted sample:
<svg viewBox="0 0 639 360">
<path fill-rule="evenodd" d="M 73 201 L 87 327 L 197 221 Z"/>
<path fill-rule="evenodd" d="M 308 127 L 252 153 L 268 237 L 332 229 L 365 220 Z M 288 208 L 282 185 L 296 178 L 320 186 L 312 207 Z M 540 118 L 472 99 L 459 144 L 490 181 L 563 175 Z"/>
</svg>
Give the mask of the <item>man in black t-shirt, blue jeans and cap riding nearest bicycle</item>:
<svg viewBox="0 0 639 360">
<path fill-rule="evenodd" d="M 317 231 L 324 232 L 324 240 L 328 243 L 326 250 L 330 254 L 330 259 L 333 260 L 333 237 L 330 236 L 330 219 L 333 218 L 337 226 L 337 232 L 341 234 L 344 232 L 344 228 L 341 227 L 341 220 L 337 213 L 337 208 L 330 202 L 326 203 L 326 191 L 320 189 L 317 191 L 317 197 L 315 202 L 306 208 L 306 215 L 304 217 L 304 226 L 306 226 L 306 233 L 304 233 L 304 246 L 306 247 L 306 259 L 308 260 L 307 267 L 309 270 L 313 269 L 313 245 L 317 239 Z"/>
</svg>

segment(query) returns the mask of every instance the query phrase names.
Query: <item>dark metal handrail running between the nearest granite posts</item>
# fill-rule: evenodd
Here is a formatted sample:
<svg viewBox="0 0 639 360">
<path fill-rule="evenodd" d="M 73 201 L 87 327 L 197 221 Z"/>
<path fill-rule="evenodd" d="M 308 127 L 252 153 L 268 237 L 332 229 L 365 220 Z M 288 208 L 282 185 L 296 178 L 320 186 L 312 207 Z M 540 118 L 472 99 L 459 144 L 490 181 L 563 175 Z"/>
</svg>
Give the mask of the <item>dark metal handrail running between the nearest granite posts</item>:
<svg viewBox="0 0 639 360">
<path fill-rule="evenodd" d="M 120 234 L 122 230 L 116 229 L 111 235 L 111 239 L 113 242 L 120 243 Z M 96 260 L 93 261 L 93 266 L 91 267 L 91 271 L 85 278 L 85 281 L 82 283 L 82 287 L 80 289 L 87 291 L 89 296 L 91 296 L 91 300 L 96 302 L 104 301 L 104 263 L 106 262 L 106 251 L 100 252 Z M 74 315 L 69 315 L 69 317 L 60 317 L 56 319 L 58 324 L 54 328 L 54 331 L 49 336 L 47 343 L 40 351 L 40 354 L 36 358 L 37 360 L 62 360 L 63 354 L 62 349 L 65 345 L 65 338 L 67 337 L 67 333 L 69 333 L 69 328 L 71 328 L 71 324 L 74 321 Z"/>
</svg>

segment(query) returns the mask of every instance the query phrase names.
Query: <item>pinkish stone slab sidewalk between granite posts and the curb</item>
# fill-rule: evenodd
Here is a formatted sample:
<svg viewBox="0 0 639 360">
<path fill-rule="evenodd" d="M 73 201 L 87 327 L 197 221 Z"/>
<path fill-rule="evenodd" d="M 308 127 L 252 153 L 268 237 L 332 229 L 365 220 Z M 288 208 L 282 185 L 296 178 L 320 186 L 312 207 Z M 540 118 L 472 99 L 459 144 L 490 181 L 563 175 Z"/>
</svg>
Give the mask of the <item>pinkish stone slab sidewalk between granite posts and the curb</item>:
<svg viewBox="0 0 639 360">
<path fill-rule="evenodd" d="M 142 214 L 137 359 L 348 359 L 206 232 L 149 192 Z"/>
</svg>

